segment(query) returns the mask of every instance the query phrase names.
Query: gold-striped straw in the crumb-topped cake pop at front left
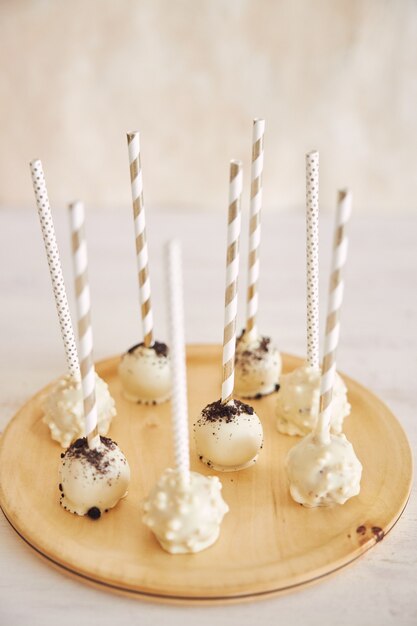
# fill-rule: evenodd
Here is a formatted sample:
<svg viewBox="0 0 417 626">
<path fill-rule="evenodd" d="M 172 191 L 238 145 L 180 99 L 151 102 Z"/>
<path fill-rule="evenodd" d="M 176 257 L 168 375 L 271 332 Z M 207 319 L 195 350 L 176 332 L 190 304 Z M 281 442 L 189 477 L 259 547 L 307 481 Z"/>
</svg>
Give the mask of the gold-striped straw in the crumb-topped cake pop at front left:
<svg viewBox="0 0 417 626">
<path fill-rule="evenodd" d="M 78 348 L 83 391 L 85 434 L 88 447 L 100 444 L 97 428 L 96 373 L 93 360 L 93 331 L 91 328 L 90 285 L 88 282 L 88 256 L 85 240 L 84 205 L 70 204 L 72 252 L 74 262 L 75 295 L 78 321 Z"/>
</svg>

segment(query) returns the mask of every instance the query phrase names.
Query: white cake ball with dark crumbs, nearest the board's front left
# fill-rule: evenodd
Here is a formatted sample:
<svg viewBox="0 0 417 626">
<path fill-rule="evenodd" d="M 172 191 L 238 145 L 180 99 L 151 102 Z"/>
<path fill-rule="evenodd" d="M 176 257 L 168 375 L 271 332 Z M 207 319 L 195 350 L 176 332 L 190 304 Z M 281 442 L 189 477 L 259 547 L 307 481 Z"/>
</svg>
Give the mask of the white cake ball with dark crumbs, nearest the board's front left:
<svg viewBox="0 0 417 626">
<path fill-rule="evenodd" d="M 100 446 L 89 450 L 86 439 L 78 439 L 61 459 L 60 504 L 77 515 L 92 508 L 104 513 L 127 494 L 129 481 L 129 464 L 114 441 L 101 437 Z"/>
</svg>

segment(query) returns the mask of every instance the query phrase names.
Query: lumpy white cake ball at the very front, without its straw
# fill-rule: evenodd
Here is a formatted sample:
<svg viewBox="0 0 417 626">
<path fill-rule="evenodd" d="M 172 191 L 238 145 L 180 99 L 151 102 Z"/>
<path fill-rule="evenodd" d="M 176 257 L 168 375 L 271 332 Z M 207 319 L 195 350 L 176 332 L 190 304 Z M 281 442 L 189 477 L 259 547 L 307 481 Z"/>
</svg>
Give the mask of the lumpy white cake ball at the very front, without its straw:
<svg viewBox="0 0 417 626">
<path fill-rule="evenodd" d="M 200 552 L 218 538 L 229 510 L 217 476 L 167 469 L 145 500 L 144 523 L 171 554 Z"/>
</svg>

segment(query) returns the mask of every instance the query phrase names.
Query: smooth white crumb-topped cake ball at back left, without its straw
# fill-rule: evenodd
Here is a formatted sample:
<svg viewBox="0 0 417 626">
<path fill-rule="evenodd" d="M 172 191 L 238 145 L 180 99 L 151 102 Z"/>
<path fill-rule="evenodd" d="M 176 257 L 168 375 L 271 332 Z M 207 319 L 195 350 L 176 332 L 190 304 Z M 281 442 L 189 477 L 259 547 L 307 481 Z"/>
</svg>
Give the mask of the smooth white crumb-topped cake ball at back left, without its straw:
<svg viewBox="0 0 417 626">
<path fill-rule="evenodd" d="M 157 344 L 162 345 L 162 344 Z M 123 355 L 119 365 L 123 395 L 130 402 L 161 404 L 171 395 L 169 356 L 139 344 Z"/>
</svg>

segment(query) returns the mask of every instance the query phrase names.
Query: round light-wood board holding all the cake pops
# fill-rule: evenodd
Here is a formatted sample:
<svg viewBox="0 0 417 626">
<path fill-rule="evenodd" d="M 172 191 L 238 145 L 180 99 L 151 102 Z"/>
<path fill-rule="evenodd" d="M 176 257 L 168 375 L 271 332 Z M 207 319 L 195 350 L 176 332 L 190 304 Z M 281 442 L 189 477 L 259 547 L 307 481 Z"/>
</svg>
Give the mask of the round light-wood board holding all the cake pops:
<svg viewBox="0 0 417 626">
<path fill-rule="evenodd" d="M 190 423 L 219 396 L 220 346 L 187 351 Z M 290 498 L 284 461 L 298 439 L 275 428 L 276 394 L 252 401 L 265 445 L 250 469 L 219 474 L 230 506 L 220 538 L 195 555 L 164 552 L 141 522 L 141 501 L 173 464 L 170 406 L 128 403 L 117 377 L 119 358 L 97 371 L 110 386 L 118 415 L 110 435 L 126 454 L 128 496 L 99 521 L 59 505 L 59 445 L 42 422 L 50 386 L 14 417 L 1 438 L 0 504 L 13 528 L 39 554 L 79 580 L 140 598 L 180 603 L 236 602 L 288 591 L 320 580 L 374 546 L 400 517 L 410 493 L 411 451 L 388 408 L 345 377 L 352 413 L 345 432 L 363 464 L 359 496 L 344 506 L 306 509 Z M 284 371 L 301 363 L 284 355 Z M 210 472 L 196 457 L 192 469 Z M 364 527 L 357 532 L 358 527 Z M 381 530 L 377 530 L 381 529 Z"/>
</svg>

